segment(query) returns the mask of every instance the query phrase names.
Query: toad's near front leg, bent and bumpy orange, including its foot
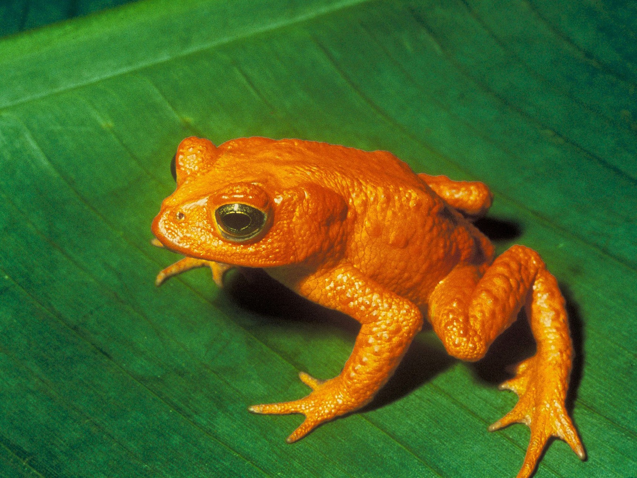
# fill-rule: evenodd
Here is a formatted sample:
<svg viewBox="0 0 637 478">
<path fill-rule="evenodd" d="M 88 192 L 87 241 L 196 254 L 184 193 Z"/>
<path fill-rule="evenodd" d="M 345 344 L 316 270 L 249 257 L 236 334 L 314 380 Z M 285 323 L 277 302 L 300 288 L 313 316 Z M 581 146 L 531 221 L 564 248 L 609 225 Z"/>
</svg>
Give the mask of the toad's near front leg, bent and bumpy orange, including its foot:
<svg viewBox="0 0 637 478">
<path fill-rule="evenodd" d="M 299 294 L 328 308 L 351 315 L 362 327 L 343 371 L 331 380 L 301 380 L 313 391 L 300 400 L 253 405 L 262 414 L 301 413 L 305 421 L 287 438 L 294 442 L 321 423 L 357 410 L 371 401 L 403 358 L 422 327 L 419 309 L 352 266 L 340 266 L 292 286 Z"/>
</svg>

